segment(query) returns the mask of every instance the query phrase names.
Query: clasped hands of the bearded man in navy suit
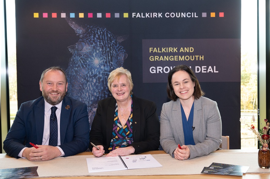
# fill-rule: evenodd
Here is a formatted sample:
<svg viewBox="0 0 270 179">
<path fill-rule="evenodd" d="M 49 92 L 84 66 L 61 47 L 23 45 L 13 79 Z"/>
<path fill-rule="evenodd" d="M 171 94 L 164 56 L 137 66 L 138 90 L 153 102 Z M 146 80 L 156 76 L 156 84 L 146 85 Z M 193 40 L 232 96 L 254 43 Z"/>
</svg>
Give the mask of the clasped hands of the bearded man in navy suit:
<svg viewBox="0 0 270 179">
<path fill-rule="evenodd" d="M 62 153 L 57 147 L 49 145 L 36 145 L 39 148 L 26 148 L 22 157 L 27 158 L 30 161 L 51 160 L 55 157 L 59 157 Z"/>
</svg>

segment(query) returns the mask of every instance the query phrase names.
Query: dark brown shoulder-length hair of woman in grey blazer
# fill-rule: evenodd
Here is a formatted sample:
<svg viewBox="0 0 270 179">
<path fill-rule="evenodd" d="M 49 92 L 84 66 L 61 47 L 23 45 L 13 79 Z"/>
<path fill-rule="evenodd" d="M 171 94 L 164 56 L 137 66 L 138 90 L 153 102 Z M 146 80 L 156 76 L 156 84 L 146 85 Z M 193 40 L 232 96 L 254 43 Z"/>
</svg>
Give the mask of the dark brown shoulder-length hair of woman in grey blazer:
<svg viewBox="0 0 270 179">
<path fill-rule="evenodd" d="M 190 79 L 195 84 L 194 92 L 193 92 L 194 99 L 199 99 L 201 96 L 204 95 L 204 92 L 201 90 L 201 86 L 200 86 L 199 81 L 198 81 L 197 77 L 195 76 L 193 70 L 191 68 L 189 68 L 187 65 L 177 65 L 173 69 L 171 69 L 171 71 L 169 72 L 169 75 L 168 75 L 168 83 L 167 83 L 168 98 L 172 99 L 173 101 L 176 101 L 178 98 L 178 96 L 175 95 L 174 88 L 172 87 L 172 84 L 171 84 L 171 79 L 172 79 L 173 74 L 175 72 L 178 72 L 178 71 L 187 72 L 190 76 Z"/>
</svg>

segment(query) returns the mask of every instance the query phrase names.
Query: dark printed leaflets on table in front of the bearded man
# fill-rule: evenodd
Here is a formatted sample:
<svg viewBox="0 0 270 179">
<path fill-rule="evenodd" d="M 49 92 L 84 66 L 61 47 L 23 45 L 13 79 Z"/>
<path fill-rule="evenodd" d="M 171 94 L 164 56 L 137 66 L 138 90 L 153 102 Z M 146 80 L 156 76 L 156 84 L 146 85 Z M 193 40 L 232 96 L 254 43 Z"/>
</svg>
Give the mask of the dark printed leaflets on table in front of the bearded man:
<svg viewBox="0 0 270 179">
<path fill-rule="evenodd" d="M 38 177 L 38 166 L 23 167 L 23 168 L 9 168 L 0 169 L 0 179 L 17 179 L 17 178 L 31 178 Z"/>
</svg>

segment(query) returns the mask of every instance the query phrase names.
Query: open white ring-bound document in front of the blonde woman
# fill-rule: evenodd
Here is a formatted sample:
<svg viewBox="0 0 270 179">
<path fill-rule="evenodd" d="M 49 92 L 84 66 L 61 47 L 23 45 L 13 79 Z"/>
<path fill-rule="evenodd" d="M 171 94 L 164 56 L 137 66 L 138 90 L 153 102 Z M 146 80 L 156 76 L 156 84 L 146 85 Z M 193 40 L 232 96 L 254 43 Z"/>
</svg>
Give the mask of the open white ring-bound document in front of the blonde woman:
<svg viewBox="0 0 270 179">
<path fill-rule="evenodd" d="M 88 172 L 105 172 L 139 168 L 162 167 L 151 155 L 129 155 L 117 157 L 86 158 Z"/>
</svg>

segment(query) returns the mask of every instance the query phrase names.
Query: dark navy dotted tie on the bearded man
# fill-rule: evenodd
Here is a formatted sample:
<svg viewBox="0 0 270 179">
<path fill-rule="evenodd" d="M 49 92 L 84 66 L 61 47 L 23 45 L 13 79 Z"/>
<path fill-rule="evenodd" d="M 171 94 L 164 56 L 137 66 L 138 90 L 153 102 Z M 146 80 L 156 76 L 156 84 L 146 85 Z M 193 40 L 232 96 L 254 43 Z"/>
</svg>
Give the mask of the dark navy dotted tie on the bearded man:
<svg viewBox="0 0 270 179">
<path fill-rule="evenodd" d="M 57 107 L 51 107 L 51 116 L 50 116 L 50 139 L 49 145 L 57 146 L 58 144 L 58 125 L 57 125 L 57 117 L 55 111 Z"/>
</svg>

